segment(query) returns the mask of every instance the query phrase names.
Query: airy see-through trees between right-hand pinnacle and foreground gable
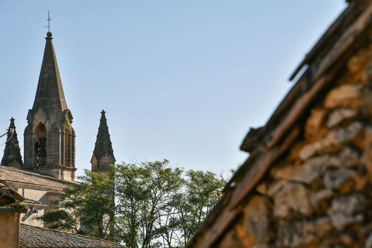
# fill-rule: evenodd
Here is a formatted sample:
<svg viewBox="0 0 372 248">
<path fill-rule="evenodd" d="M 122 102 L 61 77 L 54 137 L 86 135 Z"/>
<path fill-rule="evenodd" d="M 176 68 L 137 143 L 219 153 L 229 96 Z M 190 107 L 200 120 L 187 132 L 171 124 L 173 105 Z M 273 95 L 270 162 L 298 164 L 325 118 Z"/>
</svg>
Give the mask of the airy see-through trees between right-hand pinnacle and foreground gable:
<svg viewBox="0 0 372 248">
<path fill-rule="evenodd" d="M 116 165 L 116 227 L 129 247 L 185 247 L 226 181 L 169 161 Z"/>
</svg>

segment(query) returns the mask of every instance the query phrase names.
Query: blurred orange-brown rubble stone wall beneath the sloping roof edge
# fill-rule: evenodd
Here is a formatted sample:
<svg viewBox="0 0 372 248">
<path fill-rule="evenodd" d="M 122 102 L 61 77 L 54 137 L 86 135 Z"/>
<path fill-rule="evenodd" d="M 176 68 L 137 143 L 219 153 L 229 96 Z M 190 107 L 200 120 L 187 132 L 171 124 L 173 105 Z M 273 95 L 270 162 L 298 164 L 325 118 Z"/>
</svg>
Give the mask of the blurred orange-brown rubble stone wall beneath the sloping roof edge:
<svg viewBox="0 0 372 248">
<path fill-rule="evenodd" d="M 219 247 L 372 247 L 372 49 L 299 120 Z"/>
</svg>

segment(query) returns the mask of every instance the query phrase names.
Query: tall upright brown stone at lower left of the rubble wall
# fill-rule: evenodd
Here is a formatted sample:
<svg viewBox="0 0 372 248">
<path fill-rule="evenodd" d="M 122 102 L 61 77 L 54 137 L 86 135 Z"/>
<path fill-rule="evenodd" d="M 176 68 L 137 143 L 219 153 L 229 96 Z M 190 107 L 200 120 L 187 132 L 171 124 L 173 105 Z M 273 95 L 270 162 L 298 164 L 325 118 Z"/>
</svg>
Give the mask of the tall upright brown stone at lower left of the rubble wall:
<svg viewBox="0 0 372 248">
<path fill-rule="evenodd" d="M 272 204 L 264 196 L 253 196 L 243 210 L 243 225 L 256 243 L 272 240 Z"/>
</svg>

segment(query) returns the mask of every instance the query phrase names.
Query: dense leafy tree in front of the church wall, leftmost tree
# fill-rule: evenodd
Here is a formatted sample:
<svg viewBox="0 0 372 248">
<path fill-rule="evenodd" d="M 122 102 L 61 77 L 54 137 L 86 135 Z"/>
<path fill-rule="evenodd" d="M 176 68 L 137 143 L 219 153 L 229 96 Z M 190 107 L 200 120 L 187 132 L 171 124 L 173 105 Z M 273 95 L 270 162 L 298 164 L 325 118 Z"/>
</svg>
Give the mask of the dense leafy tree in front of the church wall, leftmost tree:
<svg viewBox="0 0 372 248">
<path fill-rule="evenodd" d="M 114 240 L 113 176 L 85 170 L 77 178 L 81 183 L 68 186 L 53 202 L 55 210 L 35 219 L 53 229 Z"/>
</svg>

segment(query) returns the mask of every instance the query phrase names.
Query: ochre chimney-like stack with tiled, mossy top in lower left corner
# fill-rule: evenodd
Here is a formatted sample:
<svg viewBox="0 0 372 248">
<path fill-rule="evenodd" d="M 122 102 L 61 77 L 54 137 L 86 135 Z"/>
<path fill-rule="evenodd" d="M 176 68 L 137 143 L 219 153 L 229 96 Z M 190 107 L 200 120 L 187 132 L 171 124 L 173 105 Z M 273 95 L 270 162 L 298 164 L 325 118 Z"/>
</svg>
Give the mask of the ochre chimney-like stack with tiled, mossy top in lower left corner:
<svg viewBox="0 0 372 248">
<path fill-rule="evenodd" d="M 0 247 L 19 248 L 19 215 L 27 212 L 23 200 L 0 178 Z"/>
</svg>

